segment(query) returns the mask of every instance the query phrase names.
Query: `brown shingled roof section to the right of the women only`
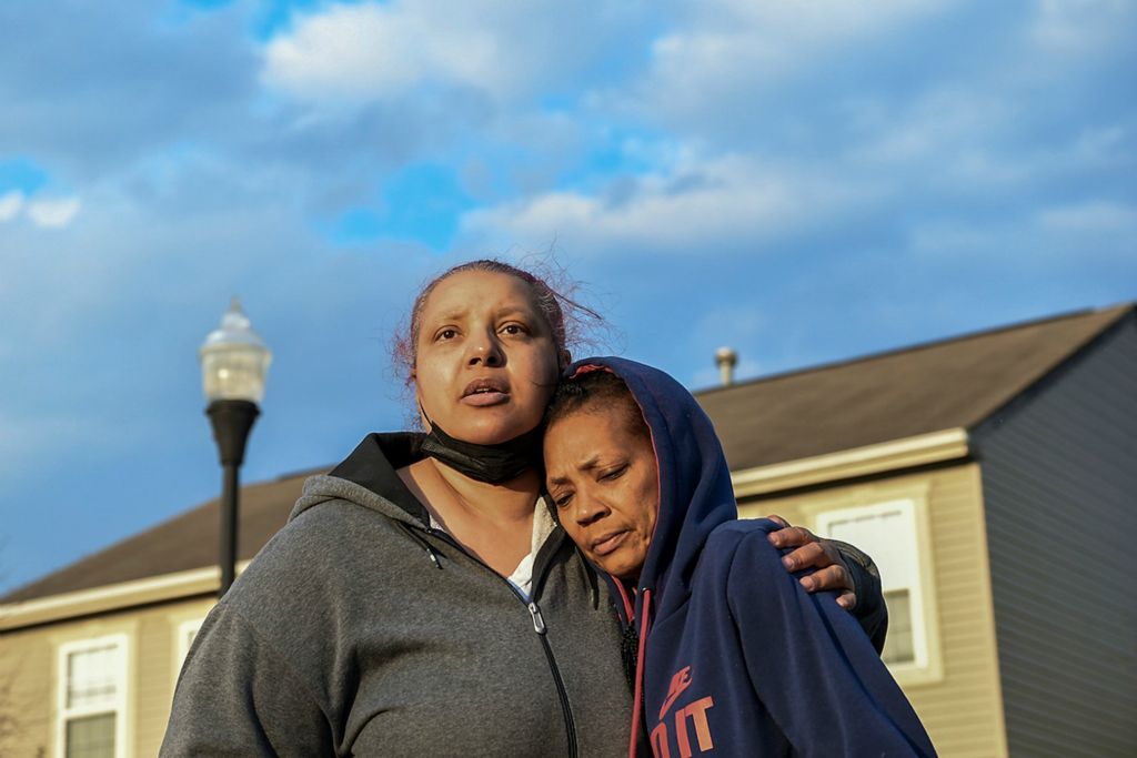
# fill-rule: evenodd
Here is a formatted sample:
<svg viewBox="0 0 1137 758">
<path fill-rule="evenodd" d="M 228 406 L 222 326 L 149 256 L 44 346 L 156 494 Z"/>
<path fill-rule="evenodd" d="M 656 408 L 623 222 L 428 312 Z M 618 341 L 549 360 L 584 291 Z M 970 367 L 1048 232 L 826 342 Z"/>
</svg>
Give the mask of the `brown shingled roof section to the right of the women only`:
<svg viewBox="0 0 1137 758">
<path fill-rule="evenodd" d="M 732 470 L 970 430 L 1132 311 L 1079 311 L 696 394 Z"/>
</svg>

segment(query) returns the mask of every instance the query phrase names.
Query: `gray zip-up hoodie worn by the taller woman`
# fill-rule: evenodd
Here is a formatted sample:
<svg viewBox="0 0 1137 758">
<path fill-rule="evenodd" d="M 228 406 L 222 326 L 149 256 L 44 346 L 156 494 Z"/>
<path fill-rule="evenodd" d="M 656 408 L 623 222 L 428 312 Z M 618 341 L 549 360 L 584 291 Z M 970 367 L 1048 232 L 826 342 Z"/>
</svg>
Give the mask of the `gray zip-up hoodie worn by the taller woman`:
<svg viewBox="0 0 1137 758">
<path fill-rule="evenodd" d="M 623 755 L 607 588 L 559 527 L 532 602 L 431 528 L 395 474 L 418 441 L 372 434 L 306 482 L 198 633 L 163 756 Z"/>
</svg>

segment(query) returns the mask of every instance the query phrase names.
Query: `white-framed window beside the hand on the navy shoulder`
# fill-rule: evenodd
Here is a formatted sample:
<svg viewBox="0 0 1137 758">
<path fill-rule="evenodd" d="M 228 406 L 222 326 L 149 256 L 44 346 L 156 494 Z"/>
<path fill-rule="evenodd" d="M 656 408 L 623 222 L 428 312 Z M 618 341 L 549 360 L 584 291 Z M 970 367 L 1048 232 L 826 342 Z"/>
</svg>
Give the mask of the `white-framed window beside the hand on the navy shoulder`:
<svg viewBox="0 0 1137 758">
<path fill-rule="evenodd" d="M 938 635 L 931 591 L 930 540 L 922 501 L 902 498 L 816 514 L 816 532 L 872 556 L 888 606 L 888 635 L 881 658 L 894 674 L 938 675 Z"/>
</svg>

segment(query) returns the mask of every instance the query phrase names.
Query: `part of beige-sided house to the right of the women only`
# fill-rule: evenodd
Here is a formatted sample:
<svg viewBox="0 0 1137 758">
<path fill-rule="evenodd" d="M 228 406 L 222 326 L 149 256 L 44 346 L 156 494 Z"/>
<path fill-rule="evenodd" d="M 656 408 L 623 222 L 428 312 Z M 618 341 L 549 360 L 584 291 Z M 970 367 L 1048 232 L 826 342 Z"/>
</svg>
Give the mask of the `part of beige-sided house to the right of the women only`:
<svg viewBox="0 0 1137 758">
<path fill-rule="evenodd" d="M 1137 755 L 1137 311 L 699 395 L 744 516 L 868 551 L 945 756 Z"/>
</svg>

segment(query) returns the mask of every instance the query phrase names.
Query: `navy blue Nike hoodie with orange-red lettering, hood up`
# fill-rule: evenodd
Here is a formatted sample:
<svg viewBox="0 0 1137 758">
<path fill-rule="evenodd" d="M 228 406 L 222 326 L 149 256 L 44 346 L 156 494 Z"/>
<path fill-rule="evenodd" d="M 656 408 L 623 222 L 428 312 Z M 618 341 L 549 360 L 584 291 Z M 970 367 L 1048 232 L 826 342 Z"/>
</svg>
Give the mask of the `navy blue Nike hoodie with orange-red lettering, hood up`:
<svg viewBox="0 0 1137 758">
<path fill-rule="evenodd" d="M 655 533 L 637 586 L 608 577 L 639 633 L 636 713 L 656 758 L 932 756 L 920 719 L 833 593 L 782 568 L 767 519 L 739 520 L 730 469 L 695 398 L 621 358 L 570 376 L 620 376 L 652 431 Z M 640 733 L 642 749 L 644 733 Z"/>
</svg>

